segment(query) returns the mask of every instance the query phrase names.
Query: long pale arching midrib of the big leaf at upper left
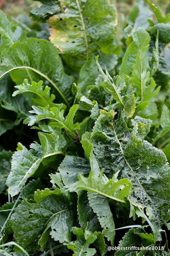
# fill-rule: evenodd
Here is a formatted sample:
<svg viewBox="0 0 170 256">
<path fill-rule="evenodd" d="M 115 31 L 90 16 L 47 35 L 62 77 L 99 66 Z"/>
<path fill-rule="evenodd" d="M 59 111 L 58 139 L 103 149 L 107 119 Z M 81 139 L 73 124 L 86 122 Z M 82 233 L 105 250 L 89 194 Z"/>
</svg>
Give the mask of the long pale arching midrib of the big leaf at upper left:
<svg viewBox="0 0 170 256">
<path fill-rule="evenodd" d="M 16 69 L 19 69 L 19 68 L 25 68 L 25 69 L 30 69 L 30 70 L 33 70 L 35 73 L 39 74 L 40 76 L 44 77 L 47 81 L 49 81 L 53 86 L 54 88 L 59 92 L 59 94 L 61 95 L 61 97 L 63 98 L 63 100 L 65 101 L 66 105 L 68 107 L 70 107 L 70 105 L 68 104 L 65 96 L 63 95 L 63 93 L 61 92 L 61 90 L 58 88 L 58 86 L 48 77 L 46 76 L 45 74 L 41 73 L 40 71 L 38 71 L 37 69 L 35 68 L 31 68 L 29 66 L 19 66 L 19 67 L 15 67 L 15 68 L 11 68 L 10 70 L 6 71 L 4 74 L 2 74 L 0 76 L 0 78 L 2 78 L 3 76 L 5 76 L 6 74 L 8 74 L 9 72 L 11 72 L 12 70 L 16 70 Z"/>
</svg>

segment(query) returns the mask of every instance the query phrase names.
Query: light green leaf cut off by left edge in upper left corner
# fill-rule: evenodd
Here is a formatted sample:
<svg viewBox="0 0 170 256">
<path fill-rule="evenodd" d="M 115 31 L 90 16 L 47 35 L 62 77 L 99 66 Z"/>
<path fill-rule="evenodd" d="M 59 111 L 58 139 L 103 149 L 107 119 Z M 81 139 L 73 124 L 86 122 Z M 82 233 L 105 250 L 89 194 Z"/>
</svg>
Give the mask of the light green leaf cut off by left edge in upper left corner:
<svg viewBox="0 0 170 256">
<path fill-rule="evenodd" d="M 12 22 L 8 20 L 5 14 L 0 10 L 0 35 L 1 35 L 1 45 L 0 45 L 0 52 L 3 50 L 8 49 L 14 42 L 19 40 L 24 40 L 25 33 L 21 29 L 20 26 L 17 26 L 15 30 L 12 28 Z"/>
</svg>

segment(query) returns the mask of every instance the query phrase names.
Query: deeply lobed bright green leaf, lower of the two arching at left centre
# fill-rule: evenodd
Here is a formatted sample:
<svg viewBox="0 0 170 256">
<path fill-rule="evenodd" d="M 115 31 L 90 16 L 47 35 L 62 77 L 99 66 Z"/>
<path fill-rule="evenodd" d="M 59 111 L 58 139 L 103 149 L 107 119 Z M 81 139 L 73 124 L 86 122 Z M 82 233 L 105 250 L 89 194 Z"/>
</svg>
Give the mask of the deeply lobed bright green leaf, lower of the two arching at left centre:
<svg viewBox="0 0 170 256">
<path fill-rule="evenodd" d="M 78 105 L 74 105 L 70 108 L 68 115 L 64 118 L 64 110 L 61 110 L 63 104 L 60 104 L 59 107 L 53 107 L 49 109 L 49 105 L 45 108 L 32 106 L 33 110 L 29 111 L 30 113 L 37 114 L 34 116 L 29 116 L 27 119 L 23 121 L 24 124 L 28 124 L 32 126 L 35 122 L 38 122 L 43 119 L 51 119 L 54 127 L 64 128 L 70 135 L 75 138 L 74 129 L 79 130 L 80 126 L 78 123 L 73 124 L 73 119 L 78 109 Z M 61 110 L 61 111 L 60 111 Z M 54 123 L 55 121 L 55 123 Z"/>
</svg>

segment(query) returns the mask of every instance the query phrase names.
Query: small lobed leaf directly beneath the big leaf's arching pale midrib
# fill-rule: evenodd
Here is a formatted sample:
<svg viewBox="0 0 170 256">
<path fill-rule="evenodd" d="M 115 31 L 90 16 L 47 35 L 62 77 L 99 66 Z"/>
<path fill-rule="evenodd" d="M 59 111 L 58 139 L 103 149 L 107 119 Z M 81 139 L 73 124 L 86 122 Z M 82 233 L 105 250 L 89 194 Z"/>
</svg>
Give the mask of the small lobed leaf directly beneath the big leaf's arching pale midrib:
<svg viewBox="0 0 170 256">
<path fill-rule="evenodd" d="M 16 96 L 23 92 L 31 92 L 31 99 L 29 100 L 29 105 L 35 105 L 35 106 L 41 106 L 46 107 L 49 105 L 50 108 L 53 107 L 59 107 L 59 104 L 53 103 L 55 100 L 55 95 L 50 95 L 50 87 L 45 86 L 43 90 L 43 81 L 31 82 L 31 84 L 28 83 L 27 79 L 24 79 L 23 84 L 14 86 L 18 90 L 14 91 L 12 96 Z M 63 109 L 66 110 L 66 106 L 63 105 Z"/>
</svg>

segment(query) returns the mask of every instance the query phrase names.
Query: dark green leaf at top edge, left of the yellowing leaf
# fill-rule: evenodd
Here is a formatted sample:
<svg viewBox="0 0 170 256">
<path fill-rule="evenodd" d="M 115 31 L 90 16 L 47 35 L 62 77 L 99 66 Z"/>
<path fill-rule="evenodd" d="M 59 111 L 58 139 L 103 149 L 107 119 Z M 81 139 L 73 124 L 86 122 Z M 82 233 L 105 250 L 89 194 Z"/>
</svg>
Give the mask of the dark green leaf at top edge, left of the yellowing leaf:
<svg viewBox="0 0 170 256">
<path fill-rule="evenodd" d="M 37 0 L 34 0 L 37 1 Z M 42 5 L 34 8 L 29 13 L 29 17 L 33 21 L 46 22 L 50 16 L 61 11 L 60 3 L 56 0 L 41 0 Z"/>
</svg>

